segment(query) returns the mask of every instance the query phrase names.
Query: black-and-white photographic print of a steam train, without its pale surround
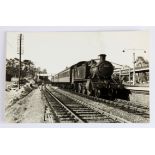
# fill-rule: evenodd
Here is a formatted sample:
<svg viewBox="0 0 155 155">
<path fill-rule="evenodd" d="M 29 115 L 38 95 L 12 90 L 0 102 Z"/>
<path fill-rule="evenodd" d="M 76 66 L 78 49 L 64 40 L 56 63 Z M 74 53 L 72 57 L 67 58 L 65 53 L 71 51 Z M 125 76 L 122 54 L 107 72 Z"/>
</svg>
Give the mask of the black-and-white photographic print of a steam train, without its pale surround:
<svg viewBox="0 0 155 155">
<path fill-rule="evenodd" d="M 149 123 L 148 31 L 6 32 L 5 122 Z"/>
</svg>

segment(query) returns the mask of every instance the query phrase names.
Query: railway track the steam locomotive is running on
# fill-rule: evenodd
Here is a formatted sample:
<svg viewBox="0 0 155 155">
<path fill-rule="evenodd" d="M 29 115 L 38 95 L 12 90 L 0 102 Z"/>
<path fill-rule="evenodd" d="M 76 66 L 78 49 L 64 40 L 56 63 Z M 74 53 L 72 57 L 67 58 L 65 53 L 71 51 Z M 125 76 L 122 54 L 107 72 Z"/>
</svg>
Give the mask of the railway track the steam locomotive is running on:
<svg viewBox="0 0 155 155">
<path fill-rule="evenodd" d="M 69 90 L 65 90 L 65 91 L 69 91 Z M 140 105 L 139 103 L 133 103 L 131 101 L 126 101 L 126 100 L 121 100 L 121 99 L 117 99 L 117 100 L 112 101 L 112 100 L 107 100 L 107 99 L 103 99 L 103 98 L 97 98 L 94 96 L 88 96 L 88 95 L 78 93 L 78 92 L 74 92 L 74 91 L 69 91 L 69 92 L 76 94 L 76 95 L 79 95 L 81 97 L 88 98 L 88 99 L 93 100 L 93 101 L 97 101 L 97 102 L 106 104 L 106 105 L 111 106 L 111 107 L 122 109 L 124 111 L 129 112 L 129 113 L 141 115 L 144 118 L 149 118 L 149 107 L 144 106 L 144 105 Z"/>
</svg>

